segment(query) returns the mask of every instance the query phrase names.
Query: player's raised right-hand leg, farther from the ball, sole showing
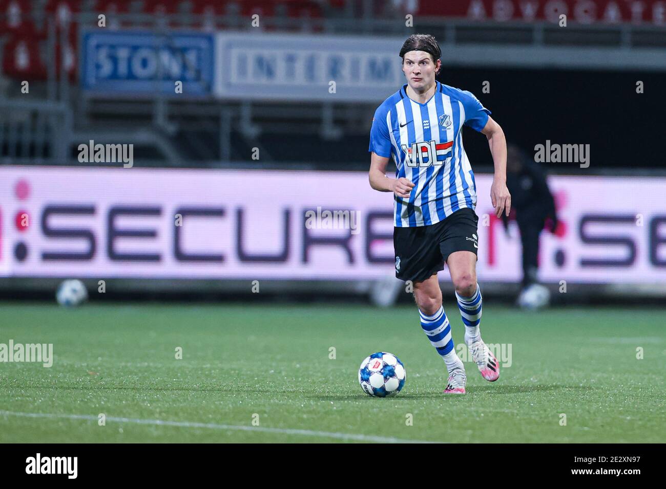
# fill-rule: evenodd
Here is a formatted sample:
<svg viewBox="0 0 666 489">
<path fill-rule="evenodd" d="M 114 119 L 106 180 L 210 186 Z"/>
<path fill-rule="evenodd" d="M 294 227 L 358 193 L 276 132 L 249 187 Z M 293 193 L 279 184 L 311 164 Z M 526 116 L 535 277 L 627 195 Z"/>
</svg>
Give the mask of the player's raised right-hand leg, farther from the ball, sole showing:
<svg viewBox="0 0 666 489">
<path fill-rule="evenodd" d="M 500 378 L 500 364 L 481 339 L 483 297 L 476 281 L 476 260 L 476 253 L 461 250 L 450 253 L 446 264 L 456 287 L 458 309 L 465 325 L 465 343 L 481 375 L 487 381 L 494 382 Z"/>
</svg>

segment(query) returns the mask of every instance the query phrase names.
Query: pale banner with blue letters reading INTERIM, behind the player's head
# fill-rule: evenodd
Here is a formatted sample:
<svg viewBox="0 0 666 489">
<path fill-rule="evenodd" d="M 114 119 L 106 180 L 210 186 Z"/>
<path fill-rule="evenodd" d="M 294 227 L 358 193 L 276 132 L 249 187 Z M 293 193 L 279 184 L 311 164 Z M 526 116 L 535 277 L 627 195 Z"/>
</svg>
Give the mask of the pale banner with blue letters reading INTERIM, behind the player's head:
<svg viewBox="0 0 666 489">
<path fill-rule="evenodd" d="M 244 100 L 381 102 L 405 82 L 404 37 L 218 33 L 215 94 Z"/>
</svg>

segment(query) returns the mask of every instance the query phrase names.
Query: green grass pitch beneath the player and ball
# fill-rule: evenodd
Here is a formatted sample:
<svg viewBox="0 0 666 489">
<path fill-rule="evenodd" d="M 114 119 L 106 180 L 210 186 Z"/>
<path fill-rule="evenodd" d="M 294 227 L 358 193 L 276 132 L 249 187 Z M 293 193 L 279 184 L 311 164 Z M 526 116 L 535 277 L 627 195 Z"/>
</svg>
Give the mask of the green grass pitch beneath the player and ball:
<svg viewBox="0 0 666 489">
<path fill-rule="evenodd" d="M 487 301 L 482 336 L 511 344 L 511 366 L 488 383 L 466 363 L 468 394 L 455 397 L 414 306 L 0 309 L 0 343 L 53 343 L 55 357 L 0 363 L 0 442 L 661 442 L 666 425 L 665 309 Z M 445 310 L 458 344 L 460 314 Z M 375 351 L 406 367 L 396 397 L 358 385 Z"/>
</svg>

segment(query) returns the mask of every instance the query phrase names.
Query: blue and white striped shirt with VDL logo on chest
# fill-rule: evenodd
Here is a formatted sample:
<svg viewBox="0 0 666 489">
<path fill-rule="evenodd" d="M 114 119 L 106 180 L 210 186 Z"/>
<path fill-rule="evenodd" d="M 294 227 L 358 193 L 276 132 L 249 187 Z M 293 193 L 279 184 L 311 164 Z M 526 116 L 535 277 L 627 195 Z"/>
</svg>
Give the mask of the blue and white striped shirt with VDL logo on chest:
<svg viewBox="0 0 666 489">
<path fill-rule="evenodd" d="M 425 104 L 407 96 L 404 84 L 377 108 L 370 149 L 393 155 L 396 178 L 414 188 L 409 199 L 394 195 L 395 226 L 429 226 L 456 210 L 476 206 L 474 172 L 462 144 L 462 126 L 481 132 L 490 110 L 470 92 L 436 82 Z"/>
</svg>

